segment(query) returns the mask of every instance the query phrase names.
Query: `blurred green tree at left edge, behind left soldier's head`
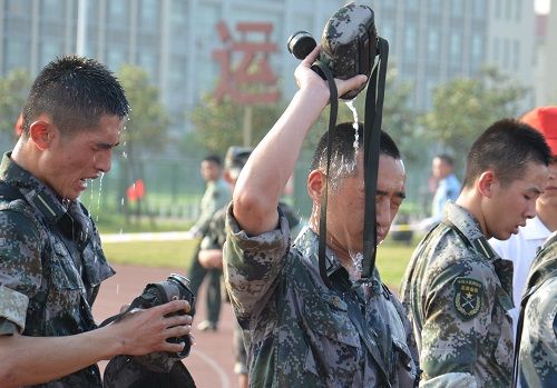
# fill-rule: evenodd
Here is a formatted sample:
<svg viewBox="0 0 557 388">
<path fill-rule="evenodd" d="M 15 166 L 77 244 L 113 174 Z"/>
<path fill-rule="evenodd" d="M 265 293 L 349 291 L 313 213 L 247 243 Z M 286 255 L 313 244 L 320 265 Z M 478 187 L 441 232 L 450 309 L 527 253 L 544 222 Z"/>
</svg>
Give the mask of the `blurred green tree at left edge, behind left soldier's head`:
<svg viewBox="0 0 557 388">
<path fill-rule="evenodd" d="M 0 78 L 0 130 L 3 133 L 13 135 L 30 88 L 31 78 L 26 70 L 13 70 Z"/>
</svg>

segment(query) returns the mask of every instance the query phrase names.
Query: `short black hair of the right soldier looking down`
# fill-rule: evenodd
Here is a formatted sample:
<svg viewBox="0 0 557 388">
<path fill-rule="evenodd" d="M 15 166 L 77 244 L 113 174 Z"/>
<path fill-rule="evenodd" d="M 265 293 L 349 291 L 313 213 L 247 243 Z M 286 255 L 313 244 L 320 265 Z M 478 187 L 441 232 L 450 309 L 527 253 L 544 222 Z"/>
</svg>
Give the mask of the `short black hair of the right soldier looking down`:
<svg viewBox="0 0 557 388">
<path fill-rule="evenodd" d="M 548 166 L 550 158 L 551 150 L 539 131 L 524 122 L 502 119 L 473 142 L 463 187 L 472 188 L 476 179 L 489 169 L 505 187 L 524 177 L 528 162 Z"/>
</svg>

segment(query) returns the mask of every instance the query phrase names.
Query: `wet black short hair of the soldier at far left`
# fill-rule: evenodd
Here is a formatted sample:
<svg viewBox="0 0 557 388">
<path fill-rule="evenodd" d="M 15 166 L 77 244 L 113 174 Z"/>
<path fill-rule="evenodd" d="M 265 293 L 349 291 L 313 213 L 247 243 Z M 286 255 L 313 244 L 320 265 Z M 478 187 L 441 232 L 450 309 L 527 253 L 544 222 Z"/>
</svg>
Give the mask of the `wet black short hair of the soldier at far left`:
<svg viewBox="0 0 557 388">
<path fill-rule="evenodd" d="M 104 64 L 66 56 L 52 60 L 37 76 L 22 112 L 26 136 L 32 121 L 43 113 L 69 135 L 96 128 L 102 116 L 124 119 L 129 103 L 124 88 Z"/>
</svg>

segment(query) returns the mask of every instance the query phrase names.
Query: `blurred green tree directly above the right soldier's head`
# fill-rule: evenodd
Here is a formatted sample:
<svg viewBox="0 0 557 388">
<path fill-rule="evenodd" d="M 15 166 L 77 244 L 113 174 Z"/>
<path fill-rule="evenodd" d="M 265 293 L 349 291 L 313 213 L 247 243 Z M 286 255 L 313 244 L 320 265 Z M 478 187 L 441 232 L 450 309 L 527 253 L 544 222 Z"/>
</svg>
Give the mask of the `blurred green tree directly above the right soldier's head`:
<svg viewBox="0 0 557 388">
<path fill-rule="evenodd" d="M 429 137 L 462 168 L 476 138 L 492 122 L 516 117 L 526 92 L 516 80 L 487 68 L 479 78 L 459 78 L 438 87 L 433 109 L 422 123 Z"/>
</svg>

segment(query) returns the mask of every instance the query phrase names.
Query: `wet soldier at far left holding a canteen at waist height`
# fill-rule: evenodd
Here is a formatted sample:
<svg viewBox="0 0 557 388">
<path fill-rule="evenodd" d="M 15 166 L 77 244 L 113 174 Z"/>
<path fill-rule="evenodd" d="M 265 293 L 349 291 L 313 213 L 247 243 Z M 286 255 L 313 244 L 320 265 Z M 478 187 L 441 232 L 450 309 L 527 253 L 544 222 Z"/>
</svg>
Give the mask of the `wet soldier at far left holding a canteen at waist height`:
<svg viewBox="0 0 557 388">
<path fill-rule="evenodd" d="M 124 90 L 95 60 L 63 57 L 35 81 L 22 133 L 0 166 L 0 386 L 101 387 L 96 362 L 179 351 L 189 332 L 173 301 L 97 329 L 91 306 L 114 275 L 78 196 L 110 169 L 128 115 Z"/>
</svg>

